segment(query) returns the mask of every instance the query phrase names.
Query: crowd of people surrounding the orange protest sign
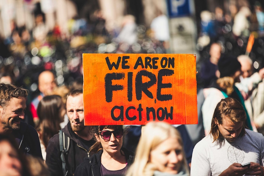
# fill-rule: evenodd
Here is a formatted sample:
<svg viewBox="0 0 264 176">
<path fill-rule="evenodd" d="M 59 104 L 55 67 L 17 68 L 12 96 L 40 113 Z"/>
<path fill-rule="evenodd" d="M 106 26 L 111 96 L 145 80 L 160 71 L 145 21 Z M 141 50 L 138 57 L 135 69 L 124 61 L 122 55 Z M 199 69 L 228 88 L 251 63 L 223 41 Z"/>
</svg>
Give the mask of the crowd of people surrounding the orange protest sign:
<svg viewBox="0 0 264 176">
<path fill-rule="evenodd" d="M 108 32 L 100 15 L 74 19 L 70 38 L 45 31 L 41 15 L 32 32 L 13 24 L 0 41 L 0 175 L 264 175 L 264 13 L 236 8 L 201 13 L 194 125 L 84 125 L 82 53 L 165 53 L 159 22 L 127 15 Z"/>
</svg>

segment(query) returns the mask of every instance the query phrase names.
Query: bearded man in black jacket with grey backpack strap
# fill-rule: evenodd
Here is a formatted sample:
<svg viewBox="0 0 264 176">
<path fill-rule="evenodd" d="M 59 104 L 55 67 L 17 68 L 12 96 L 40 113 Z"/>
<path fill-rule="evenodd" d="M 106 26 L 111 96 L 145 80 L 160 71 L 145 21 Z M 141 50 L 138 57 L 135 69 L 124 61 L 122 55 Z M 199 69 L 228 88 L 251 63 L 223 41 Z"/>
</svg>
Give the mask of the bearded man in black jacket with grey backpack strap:
<svg viewBox="0 0 264 176">
<path fill-rule="evenodd" d="M 73 175 L 76 167 L 85 157 L 89 157 L 89 148 L 95 143 L 90 135 L 90 126 L 84 126 L 82 90 L 74 90 L 67 95 L 66 111 L 69 123 L 62 129 L 70 137 L 70 145 L 66 155 L 67 175 Z M 51 175 L 63 176 L 59 134 L 49 140 L 46 164 Z"/>
</svg>

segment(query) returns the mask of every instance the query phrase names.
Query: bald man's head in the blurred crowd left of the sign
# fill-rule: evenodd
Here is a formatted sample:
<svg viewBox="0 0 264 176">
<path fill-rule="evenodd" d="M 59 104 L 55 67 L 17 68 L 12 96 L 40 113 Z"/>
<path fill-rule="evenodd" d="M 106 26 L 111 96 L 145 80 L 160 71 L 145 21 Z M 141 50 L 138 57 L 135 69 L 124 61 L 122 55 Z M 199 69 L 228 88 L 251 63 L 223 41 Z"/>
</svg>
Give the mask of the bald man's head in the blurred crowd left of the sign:
<svg viewBox="0 0 264 176">
<path fill-rule="evenodd" d="M 54 74 L 51 71 L 43 71 L 39 75 L 39 90 L 44 95 L 48 95 L 56 87 Z"/>
</svg>

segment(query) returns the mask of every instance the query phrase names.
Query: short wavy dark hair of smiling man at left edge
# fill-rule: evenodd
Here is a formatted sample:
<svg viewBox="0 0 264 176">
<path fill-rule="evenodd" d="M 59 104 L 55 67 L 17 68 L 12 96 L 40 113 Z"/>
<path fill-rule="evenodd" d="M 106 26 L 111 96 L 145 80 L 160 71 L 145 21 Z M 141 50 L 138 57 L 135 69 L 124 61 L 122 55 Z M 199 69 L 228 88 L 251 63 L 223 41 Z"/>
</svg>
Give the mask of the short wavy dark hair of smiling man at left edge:
<svg viewBox="0 0 264 176">
<path fill-rule="evenodd" d="M 27 97 L 28 90 L 10 84 L 0 83 L 0 106 L 6 107 L 12 98 Z"/>
</svg>

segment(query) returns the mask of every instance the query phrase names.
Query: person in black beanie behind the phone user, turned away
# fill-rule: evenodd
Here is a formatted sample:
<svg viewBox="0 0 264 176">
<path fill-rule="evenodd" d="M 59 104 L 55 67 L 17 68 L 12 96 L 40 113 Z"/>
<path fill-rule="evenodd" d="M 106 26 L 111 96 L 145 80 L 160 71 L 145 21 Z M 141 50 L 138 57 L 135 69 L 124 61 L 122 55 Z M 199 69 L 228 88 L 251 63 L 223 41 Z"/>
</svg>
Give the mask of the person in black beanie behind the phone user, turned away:
<svg viewBox="0 0 264 176">
<path fill-rule="evenodd" d="M 202 105 L 202 118 L 206 135 L 209 133 L 211 128 L 213 111 L 221 99 L 233 97 L 245 107 L 243 95 L 235 86 L 235 83 L 240 82 L 240 62 L 234 56 L 225 55 L 219 59 L 218 69 L 220 71 L 220 78 L 214 81 L 209 88 L 203 89 L 205 100 Z M 247 113 L 247 110 L 246 114 L 246 126 L 253 130 L 251 119 Z"/>
</svg>

